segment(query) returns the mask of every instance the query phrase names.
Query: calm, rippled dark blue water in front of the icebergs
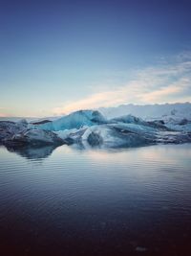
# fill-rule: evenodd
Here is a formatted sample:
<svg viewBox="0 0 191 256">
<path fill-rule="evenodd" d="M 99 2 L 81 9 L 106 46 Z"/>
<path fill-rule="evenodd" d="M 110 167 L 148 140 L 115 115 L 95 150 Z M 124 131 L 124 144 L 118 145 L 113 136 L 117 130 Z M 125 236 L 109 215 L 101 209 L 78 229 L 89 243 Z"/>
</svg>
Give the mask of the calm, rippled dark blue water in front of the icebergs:
<svg viewBox="0 0 191 256">
<path fill-rule="evenodd" d="M 191 255 L 191 144 L 0 148 L 0 255 Z"/>
</svg>

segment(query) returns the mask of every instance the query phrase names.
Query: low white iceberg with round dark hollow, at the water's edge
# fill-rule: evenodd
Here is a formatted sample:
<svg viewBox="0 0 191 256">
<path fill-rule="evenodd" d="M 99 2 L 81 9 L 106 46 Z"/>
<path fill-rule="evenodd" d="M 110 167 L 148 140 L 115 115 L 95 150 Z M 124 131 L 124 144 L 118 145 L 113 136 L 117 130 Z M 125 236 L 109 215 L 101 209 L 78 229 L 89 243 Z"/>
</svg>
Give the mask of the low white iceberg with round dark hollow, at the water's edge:
<svg viewBox="0 0 191 256">
<path fill-rule="evenodd" d="M 85 148 L 91 147 L 137 147 L 155 143 L 155 130 L 153 128 L 142 128 L 133 124 L 106 124 L 80 128 L 77 131 L 67 131 L 64 139 L 71 144 L 82 144 Z M 60 131 L 60 137 L 66 135 Z"/>
</svg>

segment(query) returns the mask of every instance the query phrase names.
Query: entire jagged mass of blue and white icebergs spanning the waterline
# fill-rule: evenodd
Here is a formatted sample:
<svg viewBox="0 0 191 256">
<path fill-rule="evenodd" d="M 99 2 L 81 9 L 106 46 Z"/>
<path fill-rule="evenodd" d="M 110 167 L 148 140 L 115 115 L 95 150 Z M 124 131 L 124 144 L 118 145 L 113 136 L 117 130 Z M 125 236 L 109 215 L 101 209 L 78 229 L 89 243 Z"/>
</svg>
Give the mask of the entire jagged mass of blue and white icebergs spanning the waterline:
<svg viewBox="0 0 191 256">
<path fill-rule="evenodd" d="M 83 148 L 124 148 L 157 143 L 191 142 L 191 122 L 145 121 L 133 115 L 107 120 L 98 111 L 80 110 L 56 120 L 0 122 L 0 142 L 6 146 L 82 145 Z"/>
</svg>

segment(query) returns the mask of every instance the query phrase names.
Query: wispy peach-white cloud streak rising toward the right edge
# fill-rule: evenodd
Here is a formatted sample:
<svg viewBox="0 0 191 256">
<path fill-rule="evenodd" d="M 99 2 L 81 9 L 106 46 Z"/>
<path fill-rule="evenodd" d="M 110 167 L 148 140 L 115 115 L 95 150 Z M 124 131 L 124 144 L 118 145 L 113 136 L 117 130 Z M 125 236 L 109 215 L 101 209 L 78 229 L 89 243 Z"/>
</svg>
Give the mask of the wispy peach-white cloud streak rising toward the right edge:
<svg viewBox="0 0 191 256">
<path fill-rule="evenodd" d="M 98 86 L 100 90 L 100 85 Z M 107 88 L 104 90 L 104 88 Z M 95 91 L 95 89 L 94 89 Z M 63 104 L 53 109 L 56 114 L 77 109 L 97 108 L 120 104 L 156 104 L 191 101 L 191 53 L 184 52 L 155 67 L 138 70 L 135 79 L 118 84 L 111 90 L 108 85 L 85 99 Z"/>
</svg>

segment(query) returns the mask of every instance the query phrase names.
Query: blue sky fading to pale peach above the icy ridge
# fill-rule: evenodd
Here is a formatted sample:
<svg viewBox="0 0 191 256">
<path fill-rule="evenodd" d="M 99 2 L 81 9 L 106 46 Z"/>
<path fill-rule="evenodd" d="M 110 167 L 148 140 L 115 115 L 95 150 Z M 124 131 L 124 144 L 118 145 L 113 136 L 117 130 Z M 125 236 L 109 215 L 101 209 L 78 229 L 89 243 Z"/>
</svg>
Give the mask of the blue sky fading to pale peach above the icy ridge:
<svg viewBox="0 0 191 256">
<path fill-rule="evenodd" d="M 191 102 L 190 0 L 1 0 L 0 116 Z"/>
</svg>

